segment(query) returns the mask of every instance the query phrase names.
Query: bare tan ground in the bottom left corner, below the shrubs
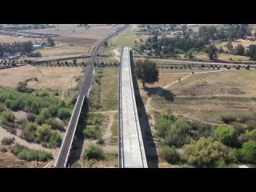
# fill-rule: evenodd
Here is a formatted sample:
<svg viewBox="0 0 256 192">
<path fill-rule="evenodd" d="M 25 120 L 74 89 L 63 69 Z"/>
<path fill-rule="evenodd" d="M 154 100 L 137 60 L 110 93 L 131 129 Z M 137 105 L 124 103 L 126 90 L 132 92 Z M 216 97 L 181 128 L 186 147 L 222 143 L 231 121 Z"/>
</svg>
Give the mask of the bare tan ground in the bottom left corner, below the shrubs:
<svg viewBox="0 0 256 192">
<path fill-rule="evenodd" d="M 0 152 L 0 168 L 39 168 L 46 166 L 47 162 L 38 162 L 38 166 L 35 161 L 26 162 L 25 160 L 18 159 L 14 154 L 7 151 L 6 153 Z"/>
</svg>

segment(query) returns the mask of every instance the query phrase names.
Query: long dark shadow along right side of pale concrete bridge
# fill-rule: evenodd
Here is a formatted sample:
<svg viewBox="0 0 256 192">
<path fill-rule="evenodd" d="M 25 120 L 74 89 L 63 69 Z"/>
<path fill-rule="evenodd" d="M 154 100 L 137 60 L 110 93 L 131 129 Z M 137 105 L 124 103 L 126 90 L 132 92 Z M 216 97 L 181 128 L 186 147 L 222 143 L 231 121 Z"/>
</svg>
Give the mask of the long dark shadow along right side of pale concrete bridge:
<svg viewBox="0 0 256 192">
<path fill-rule="evenodd" d="M 139 123 L 142 130 L 142 138 L 146 153 L 146 161 L 149 168 L 158 168 L 158 152 L 156 150 L 156 146 L 154 144 L 154 139 L 152 132 L 150 130 L 150 123 L 149 119 L 146 114 L 146 109 L 144 103 L 142 102 L 142 97 L 139 94 L 138 90 L 138 82 L 134 75 L 134 59 L 133 53 L 130 51 L 130 66 L 131 66 L 131 73 L 133 76 L 133 83 L 134 83 L 134 94 L 136 99 L 136 105 L 138 107 L 138 117 Z"/>
</svg>

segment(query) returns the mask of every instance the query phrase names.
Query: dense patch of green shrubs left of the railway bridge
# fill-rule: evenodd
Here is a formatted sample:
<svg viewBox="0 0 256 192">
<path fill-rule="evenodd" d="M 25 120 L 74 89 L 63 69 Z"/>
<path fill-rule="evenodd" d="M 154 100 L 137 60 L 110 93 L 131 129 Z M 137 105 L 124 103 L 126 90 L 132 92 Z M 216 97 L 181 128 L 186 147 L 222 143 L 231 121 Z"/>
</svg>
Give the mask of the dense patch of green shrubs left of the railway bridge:
<svg viewBox="0 0 256 192">
<path fill-rule="evenodd" d="M 26 87 L 26 82 L 19 82 L 16 90 L 1 91 L 0 126 L 11 134 L 21 130 L 20 137 L 27 142 L 41 143 L 48 148 L 61 146 L 59 131 L 64 131 L 69 122 L 70 105 L 49 90 L 31 93 L 27 89 L 30 88 Z M 15 119 L 13 111 L 26 112 L 26 118 Z"/>
</svg>

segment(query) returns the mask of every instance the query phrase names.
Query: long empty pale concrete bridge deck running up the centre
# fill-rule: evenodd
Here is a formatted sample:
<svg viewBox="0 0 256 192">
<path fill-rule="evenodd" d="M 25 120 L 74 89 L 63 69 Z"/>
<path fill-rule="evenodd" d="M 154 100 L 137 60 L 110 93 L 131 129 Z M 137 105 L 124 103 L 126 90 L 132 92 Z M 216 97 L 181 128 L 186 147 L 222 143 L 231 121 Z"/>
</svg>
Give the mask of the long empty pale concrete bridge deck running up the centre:
<svg viewBox="0 0 256 192">
<path fill-rule="evenodd" d="M 119 75 L 119 167 L 146 168 L 146 154 L 138 121 L 128 47 L 124 47 L 122 50 Z"/>
</svg>

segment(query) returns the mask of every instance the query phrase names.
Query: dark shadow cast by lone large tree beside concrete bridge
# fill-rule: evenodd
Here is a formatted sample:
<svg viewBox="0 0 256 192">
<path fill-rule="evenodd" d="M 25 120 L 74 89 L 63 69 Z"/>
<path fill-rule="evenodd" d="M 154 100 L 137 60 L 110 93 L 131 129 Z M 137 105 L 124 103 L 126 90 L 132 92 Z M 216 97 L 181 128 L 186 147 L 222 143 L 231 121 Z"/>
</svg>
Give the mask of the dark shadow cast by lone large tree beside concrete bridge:
<svg viewBox="0 0 256 192">
<path fill-rule="evenodd" d="M 174 102 L 175 95 L 170 90 L 162 89 L 162 87 L 160 86 L 156 86 L 152 88 L 145 87 L 144 90 L 146 90 L 146 94 L 149 97 L 154 97 L 157 94 L 161 98 L 165 98 L 169 102 Z"/>
</svg>

